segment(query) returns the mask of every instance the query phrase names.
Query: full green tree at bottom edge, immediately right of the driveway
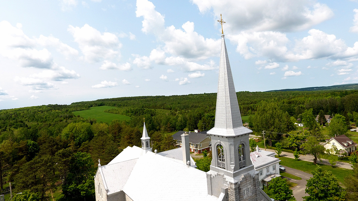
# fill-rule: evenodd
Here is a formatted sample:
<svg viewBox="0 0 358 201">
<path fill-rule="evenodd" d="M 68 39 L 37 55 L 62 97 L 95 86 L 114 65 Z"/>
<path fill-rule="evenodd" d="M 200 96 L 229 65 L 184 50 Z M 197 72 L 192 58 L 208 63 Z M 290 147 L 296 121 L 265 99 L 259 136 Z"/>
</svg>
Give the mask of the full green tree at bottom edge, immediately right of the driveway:
<svg viewBox="0 0 358 201">
<path fill-rule="evenodd" d="M 337 178 L 331 171 L 322 170 L 317 165 L 312 171 L 313 177 L 307 180 L 305 192 L 309 196 L 303 197 L 305 201 L 344 201 L 345 191 L 339 185 Z"/>
</svg>

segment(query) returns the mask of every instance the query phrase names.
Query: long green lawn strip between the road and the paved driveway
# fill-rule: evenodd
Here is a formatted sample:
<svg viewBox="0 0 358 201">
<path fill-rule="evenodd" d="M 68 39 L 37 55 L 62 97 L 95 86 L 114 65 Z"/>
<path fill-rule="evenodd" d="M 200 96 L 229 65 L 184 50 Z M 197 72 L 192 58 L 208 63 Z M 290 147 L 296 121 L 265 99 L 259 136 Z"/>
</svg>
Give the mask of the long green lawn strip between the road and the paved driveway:
<svg viewBox="0 0 358 201">
<path fill-rule="evenodd" d="M 276 156 L 276 158 L 280 158 L 280 160 L 281 160 L 280 164 L 283 166 L 295 168 L 297 170 L 301 170 L 301 171 L 304 171 L 307 173 L 311 173 L 311 171 L 313 171 L 316 168 L 316 165 L 314 165 L 313 162 L 296 161 L 293 158 L 278 157 L 278 156 Z M 352 170 L 348 170 L 345 168 L 332 167 L 332 166 L 327 166 L 327 165 L 322 165 L 322 164 L 318 164 L 318 165 L 321 166 L 321 168 L 323 170 L 331 171 L 337 177 L 337 180 L 340 183 L 343 183 L 344 177 L 353 173 Z"/>
</svg>

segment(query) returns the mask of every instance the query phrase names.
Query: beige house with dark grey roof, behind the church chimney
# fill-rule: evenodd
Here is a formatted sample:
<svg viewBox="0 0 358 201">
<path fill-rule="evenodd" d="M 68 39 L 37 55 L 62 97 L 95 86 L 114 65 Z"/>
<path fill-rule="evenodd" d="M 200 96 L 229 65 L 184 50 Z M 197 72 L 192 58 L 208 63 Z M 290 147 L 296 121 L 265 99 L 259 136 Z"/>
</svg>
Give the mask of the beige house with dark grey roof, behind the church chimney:
<svg viewBox="0 0 358 201">
<path fill-rule="evenodd" d="M 207 131 L 202 132 L 185 132 L 178 131 L 173 134 L 173 139 L 176 141 L 177 147 L 182 147 L 182 138 L 180 137 L 183 133 L 189 134 L 189 145 L 190 151 L 194 153 L 202 153 L 204 149 L 211 151 L 211 137 L 206 134 Z"/>
</svg>

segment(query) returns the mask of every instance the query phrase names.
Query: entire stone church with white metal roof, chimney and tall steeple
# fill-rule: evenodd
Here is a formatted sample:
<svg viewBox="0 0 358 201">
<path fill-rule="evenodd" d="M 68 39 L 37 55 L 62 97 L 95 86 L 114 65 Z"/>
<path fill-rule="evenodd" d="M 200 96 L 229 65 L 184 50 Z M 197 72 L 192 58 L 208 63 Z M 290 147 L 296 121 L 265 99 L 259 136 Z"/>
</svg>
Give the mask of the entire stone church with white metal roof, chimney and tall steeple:
<svg viewBox="0 0 358 201">
<path fill-rule="evenodd" d="M 242 124 L 223 32 L 221 38 L 215 126 L 207 131 L 210 170 L 195 168 L 188 133 L 181 135 L 182 147 L 152 152 L 144 123 L 141 148 L 127 147 L 107 165 L 98 164 L 96 201 L 272 200 L 261 190 L 250 160 L 252 131 Z"/>
</svg>

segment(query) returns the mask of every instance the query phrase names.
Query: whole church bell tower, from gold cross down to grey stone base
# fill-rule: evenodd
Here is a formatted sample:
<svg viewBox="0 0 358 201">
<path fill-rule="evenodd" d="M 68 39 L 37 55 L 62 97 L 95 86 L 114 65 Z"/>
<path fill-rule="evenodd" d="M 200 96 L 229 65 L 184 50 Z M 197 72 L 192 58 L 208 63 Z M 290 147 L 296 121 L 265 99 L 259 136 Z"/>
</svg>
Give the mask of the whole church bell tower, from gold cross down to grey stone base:
<svg viewBox="0 0 358 201">
<path fill-rule="evenodd" d="M 221 19 L 219 23 L 225 22 Z M 252 131 L 242 124 L 223 31 L 221 39 L 215 126 L 207 132 L 211 136 L 213 156 L 207 172 L 208 194 L 224 193 L 229 201 L 265 200 L 258 172 L 250 160 Z"/>
</svg>

